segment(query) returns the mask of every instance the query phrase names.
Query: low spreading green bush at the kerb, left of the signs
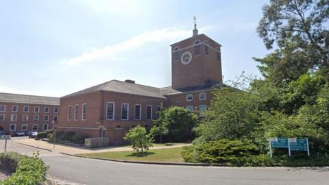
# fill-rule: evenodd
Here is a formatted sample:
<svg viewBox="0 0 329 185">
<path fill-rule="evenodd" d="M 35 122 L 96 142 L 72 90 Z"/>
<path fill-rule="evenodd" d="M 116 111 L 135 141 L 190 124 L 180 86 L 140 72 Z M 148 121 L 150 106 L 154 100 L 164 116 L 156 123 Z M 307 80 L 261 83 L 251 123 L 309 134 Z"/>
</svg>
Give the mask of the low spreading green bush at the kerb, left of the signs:
<svg viewBox="0 0 329 185">
<path fill-rule="evenodd" d="M 186 162 L 243 166 L 248 158 L 259 153 L 252 143 L 222 139 L 184 147 L 182 157 Z"/>
</svg>

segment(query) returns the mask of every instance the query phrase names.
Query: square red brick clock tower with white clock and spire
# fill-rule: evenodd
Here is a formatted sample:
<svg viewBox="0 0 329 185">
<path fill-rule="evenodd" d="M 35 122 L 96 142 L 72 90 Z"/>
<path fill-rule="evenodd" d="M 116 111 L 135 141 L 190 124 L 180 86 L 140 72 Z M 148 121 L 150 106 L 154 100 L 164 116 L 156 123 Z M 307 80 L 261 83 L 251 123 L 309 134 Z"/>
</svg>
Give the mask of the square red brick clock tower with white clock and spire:
<svg viewBox="0 0 329 185">
<path fill-rule="evenodd" d="M 221 84 L 221 45 L 205 34 L 198 34 L 171 45 L 171 86 L 182 89 Z"/>
</svg>

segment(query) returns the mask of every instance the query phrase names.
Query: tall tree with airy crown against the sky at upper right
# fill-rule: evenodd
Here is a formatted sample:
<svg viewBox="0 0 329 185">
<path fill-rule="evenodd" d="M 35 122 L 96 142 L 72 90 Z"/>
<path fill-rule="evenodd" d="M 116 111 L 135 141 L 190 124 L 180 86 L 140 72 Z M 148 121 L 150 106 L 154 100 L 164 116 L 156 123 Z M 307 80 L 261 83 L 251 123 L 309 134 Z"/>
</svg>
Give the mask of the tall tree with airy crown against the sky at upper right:
<svg viewBox="0 0 329 185">
<path fill-rule="evenodd" d="M 329 72 L 329 1 L 271 0 L 263 8 L 257 32 L 267 49 L 278 49 L 260 62 L 273 82 L 297 79 L 307 71 Z"/>
</svg>

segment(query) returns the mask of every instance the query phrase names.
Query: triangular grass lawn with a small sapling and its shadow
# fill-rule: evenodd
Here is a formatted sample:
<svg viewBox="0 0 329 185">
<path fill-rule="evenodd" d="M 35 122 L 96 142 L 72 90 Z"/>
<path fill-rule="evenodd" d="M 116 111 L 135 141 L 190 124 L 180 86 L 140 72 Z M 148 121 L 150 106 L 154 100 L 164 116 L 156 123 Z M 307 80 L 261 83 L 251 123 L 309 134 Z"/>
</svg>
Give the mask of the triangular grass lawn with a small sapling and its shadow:
<svg viewBox="0 0 329 185">
<path fill-rule="evenodd" d="M 79 156 L 93 158 L 108 158 L 116 160 L 158 161 L 158 162 L 184 162 L 181 156 L 182 148 L 152 149 L 148 151 L 112 151 L 103 153 L 85 153 Z"/>
</svg>

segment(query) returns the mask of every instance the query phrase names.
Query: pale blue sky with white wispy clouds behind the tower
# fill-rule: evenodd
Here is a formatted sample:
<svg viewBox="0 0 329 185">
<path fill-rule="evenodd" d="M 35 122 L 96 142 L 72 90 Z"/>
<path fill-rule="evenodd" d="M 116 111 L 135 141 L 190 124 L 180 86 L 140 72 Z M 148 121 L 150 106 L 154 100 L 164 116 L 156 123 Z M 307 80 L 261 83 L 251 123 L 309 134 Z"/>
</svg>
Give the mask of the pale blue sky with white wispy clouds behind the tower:
<svg viewBox="0 0 329 185">
<path fill-rule="evenodd" d="M 112 79 L 171 86 L 170 45 L 219 42 L 223 81 L 260 77 L 256 27 L 267 1 L 0 0 L 0 92 L 62 97 Z"/>
</svg>

